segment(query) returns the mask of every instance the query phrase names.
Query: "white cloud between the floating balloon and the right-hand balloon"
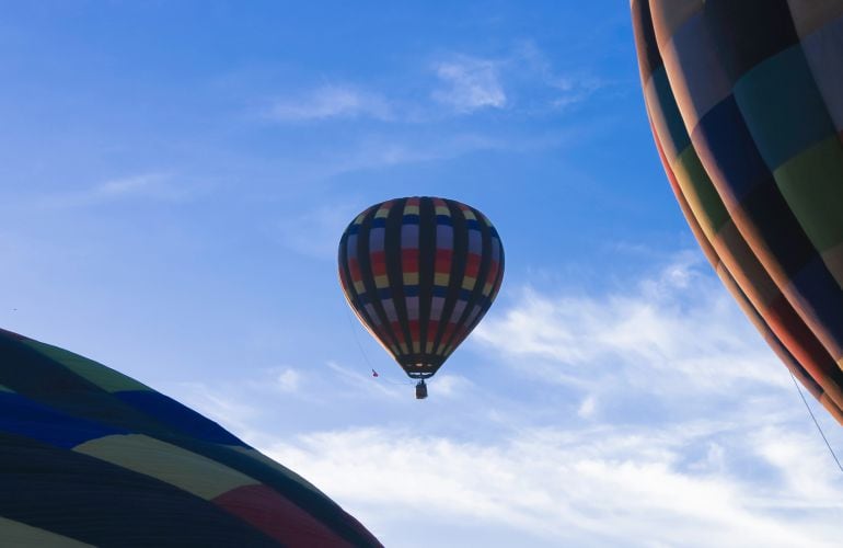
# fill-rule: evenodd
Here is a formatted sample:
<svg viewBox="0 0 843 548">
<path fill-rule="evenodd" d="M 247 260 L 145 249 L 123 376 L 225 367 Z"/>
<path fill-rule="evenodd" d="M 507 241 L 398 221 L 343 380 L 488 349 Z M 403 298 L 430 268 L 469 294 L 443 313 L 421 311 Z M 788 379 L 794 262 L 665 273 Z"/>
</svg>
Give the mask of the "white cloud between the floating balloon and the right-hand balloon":
<svg viewBox="0 0 843 548">
<path fill-rule="evenodd" d="M 530 363 L 528 373 L 563 384 L 786 388 L 785 369 L 704 267 L 696 254 L 682 255 L 653 279 L 599 296 L 524 287 L 516 306 L 488 318 L 474 336 L 513 364 Z"/>
</svg>

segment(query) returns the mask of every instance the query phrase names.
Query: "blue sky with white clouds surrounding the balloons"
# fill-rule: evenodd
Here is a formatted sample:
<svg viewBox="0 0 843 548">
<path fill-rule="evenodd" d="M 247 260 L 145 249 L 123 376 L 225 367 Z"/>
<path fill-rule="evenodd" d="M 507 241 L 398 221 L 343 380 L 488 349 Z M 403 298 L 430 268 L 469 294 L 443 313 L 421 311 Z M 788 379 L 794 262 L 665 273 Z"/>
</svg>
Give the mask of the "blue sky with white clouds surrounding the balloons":
<svg viewBox="0 0 843 548">
<path fill-rule="evenodd" d="M 658 162 L 625 2 L 3 11 L 2 327 L 206 413 L 386 546 L 839 540 L 840 470 Z M 423 402 L 335 266 L 405 195 L 507 252 Z"/>
</svg>

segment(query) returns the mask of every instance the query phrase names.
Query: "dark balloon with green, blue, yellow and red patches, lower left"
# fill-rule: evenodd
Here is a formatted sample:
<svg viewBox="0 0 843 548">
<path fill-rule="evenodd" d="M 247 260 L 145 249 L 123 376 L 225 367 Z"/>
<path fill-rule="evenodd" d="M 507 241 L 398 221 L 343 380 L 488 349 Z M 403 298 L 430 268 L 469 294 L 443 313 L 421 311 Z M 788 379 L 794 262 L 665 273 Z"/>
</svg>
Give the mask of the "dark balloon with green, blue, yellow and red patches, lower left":
<svg viewBox="0 0 843 548">
<path fill-rule="evenodd" d="M 217 423 L 104 365 L 2 330 L 0 545 L 381 546 Z"/>
</svg>

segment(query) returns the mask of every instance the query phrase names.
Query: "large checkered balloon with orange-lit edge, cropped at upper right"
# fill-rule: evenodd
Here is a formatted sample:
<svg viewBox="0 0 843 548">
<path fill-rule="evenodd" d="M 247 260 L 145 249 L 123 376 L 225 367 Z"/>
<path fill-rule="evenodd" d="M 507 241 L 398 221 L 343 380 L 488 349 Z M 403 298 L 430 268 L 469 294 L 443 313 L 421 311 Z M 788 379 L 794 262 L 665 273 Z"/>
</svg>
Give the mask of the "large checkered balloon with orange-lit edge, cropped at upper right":
<svg viewBox="0 0 843 548">
<path fill-rule="evenodd" d="M 843 1 L 633 0 L 680 207 L 793 375 L 843 423 Z"/>
</svg>

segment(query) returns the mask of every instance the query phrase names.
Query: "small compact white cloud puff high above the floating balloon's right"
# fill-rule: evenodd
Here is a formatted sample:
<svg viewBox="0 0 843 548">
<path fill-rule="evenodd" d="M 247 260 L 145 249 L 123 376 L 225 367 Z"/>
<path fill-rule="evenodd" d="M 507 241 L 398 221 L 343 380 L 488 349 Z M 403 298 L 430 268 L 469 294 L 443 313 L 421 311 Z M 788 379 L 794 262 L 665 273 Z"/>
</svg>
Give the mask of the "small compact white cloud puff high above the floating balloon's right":
<svg viewBox="0 0 843 548">
<path fill-rule="evenodd" d="M 434 99 L 459 113 L 480 109 L 503 109 L 507 95 L 500 82 L 499 64 L 489 59 L 460 56 L 436 66 L 436 75 L 444 84 Z"/>
</svg>

